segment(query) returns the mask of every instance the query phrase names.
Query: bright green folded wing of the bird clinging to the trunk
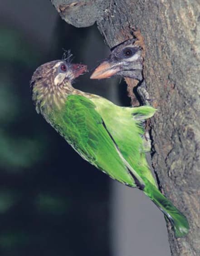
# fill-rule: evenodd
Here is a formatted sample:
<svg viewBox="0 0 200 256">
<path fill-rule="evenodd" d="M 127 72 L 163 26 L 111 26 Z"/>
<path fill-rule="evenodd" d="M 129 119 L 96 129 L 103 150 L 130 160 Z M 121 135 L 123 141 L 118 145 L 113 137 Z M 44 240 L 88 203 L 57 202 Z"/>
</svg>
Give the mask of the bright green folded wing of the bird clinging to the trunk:
<svg viewBox="0 0 200 256">
<path fill-rule="evenodd" d="M 50 119 L 52 126 L 83 159 L 113 179 L 136 186 L 93 102 L 83 96 L 70 95 L 63 110 L 52 114 Z M 136 178 L 141 181 L 139 176 Z"/>
</svg>

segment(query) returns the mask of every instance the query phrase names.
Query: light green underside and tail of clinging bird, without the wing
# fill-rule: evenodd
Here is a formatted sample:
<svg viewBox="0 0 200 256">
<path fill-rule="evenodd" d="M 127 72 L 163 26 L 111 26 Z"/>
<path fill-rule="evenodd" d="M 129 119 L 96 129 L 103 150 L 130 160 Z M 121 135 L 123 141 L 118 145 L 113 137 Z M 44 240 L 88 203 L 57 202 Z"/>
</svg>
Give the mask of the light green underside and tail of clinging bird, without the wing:
<svg viewBox="0 0 200 256">
<path fill-rule="evenodd" d="M 189 224 L 185 216 L 156 188 L 156 182 L 151 174 L 145 157 L 144 129 L 139 120 L 153 116 L 155 108 L 142 106 L 138 108 L 119 107 L 102 98 L 91 99 L 96 104 L 97 111 L 101 114 L 109 133 L 117 143 L 117 147 L 124 159 L 132 166 L 145 184 L 142 189 L 166 215 L 174 227 L 176 237 L 185 236 Z M 130 169 L 132 171 L 132 169 Z M 134 173 L 133 173 L 134 175 Z"/>
</svg>

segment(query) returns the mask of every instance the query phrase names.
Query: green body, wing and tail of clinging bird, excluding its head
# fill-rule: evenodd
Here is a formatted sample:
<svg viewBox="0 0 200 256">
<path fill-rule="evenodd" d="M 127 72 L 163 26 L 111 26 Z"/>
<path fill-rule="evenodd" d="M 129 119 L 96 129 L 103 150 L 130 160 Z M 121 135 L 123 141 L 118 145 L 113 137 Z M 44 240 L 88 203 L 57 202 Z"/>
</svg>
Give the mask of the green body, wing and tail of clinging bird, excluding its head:
<svg viewBox="0 0 200 256">
<path fill-rule="evenodd" d="M 82 95 L 78 95 L 82 94 Z M 60 109 L 54 105 L 42 114 L 66 141 L 98 169 L 131 187 L 139 187 L 171 221 L 176 237 L 185 236 L 185 216 L 157 189 L 146 162 L 142 120 L 156 109 L 124 108 L 92 94 L 73 91 Z"/>
</svg>

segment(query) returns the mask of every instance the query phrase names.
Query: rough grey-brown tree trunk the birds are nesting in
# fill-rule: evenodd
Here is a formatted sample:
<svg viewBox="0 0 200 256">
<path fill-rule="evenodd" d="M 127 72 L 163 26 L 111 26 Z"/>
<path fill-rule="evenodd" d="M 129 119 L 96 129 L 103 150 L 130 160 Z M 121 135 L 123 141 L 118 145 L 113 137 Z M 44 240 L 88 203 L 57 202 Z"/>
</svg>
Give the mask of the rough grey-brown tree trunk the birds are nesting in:
<svg viewBox="0 0 200 256">
<path fill-rule="evenodd" d="M 163 193 L 187 216 L 190 233 L 173 256 L 200 255 L 200 2 L 199 0 L 52 0 L 73 26 L 97 22 L 109 47 L 140 30 L 144 76 L 152 104 L 153 166 Z"/>
</svg>

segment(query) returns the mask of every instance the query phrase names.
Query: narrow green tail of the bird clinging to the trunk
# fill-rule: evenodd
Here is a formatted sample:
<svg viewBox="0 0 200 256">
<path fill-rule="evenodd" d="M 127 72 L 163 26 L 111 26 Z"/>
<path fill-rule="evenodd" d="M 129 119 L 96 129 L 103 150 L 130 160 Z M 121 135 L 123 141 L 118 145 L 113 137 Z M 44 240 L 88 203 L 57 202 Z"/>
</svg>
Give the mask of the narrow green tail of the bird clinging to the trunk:
<svg viewBox="0 0 200 256">
<path fill-rule="evenodd" d="M 144 193 L 158 206 L 173 225 L 175 236 L 186 236 L 189 231 L 189 224 L 186 217 L 168 200 L 155 186 L 148 183 Z"/>
</svg>

